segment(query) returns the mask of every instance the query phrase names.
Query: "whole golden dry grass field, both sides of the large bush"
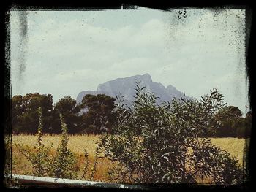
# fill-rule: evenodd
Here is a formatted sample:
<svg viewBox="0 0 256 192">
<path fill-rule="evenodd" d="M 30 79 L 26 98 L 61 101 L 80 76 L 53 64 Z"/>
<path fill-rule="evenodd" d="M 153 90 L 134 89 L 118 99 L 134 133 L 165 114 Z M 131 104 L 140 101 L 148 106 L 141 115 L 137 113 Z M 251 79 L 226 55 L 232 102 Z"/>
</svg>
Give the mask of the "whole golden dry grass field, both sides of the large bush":
<svg viewBox="0 0 256 192">
<path fill-rule="evenodd" d="M 61 140 L 60 135 L 45 135 L 43 136 L 43 143 L 46 146 L 53 145 L 53 149 L 56 149 Z M 33 147 L 37 142 L 37 136 L 34 135 L 15 135 L 12 137 L 12 174 L 28 174 L 31 171 L 31 164 L 26 158 L 18 151 L 15 144 L 28 145 Z M 75 153 L 78 157 L 78 163 L 75 166 L 78 176 L 83 174 L 83 166 L 85 163 L 84 149 L 89 153 L 89 168 L 91 169 L 94 158 L 97 143 L 99 142 L 99 136 L 97 135 L 70 135 L 69 136 L 69 149 Z M 238 157 L 239 164 L 243 164 L 243 153 L 245 139 L 237 138 L 212 138 L 211 142 L 214 145 L 218 145 L 222 150 L 227 150 L 231 155 Z M 53 153 L 55 153 L 53 151 Z M 112 166 L 108 159 L 99 161 L 97 172 L 92 180 L 95 181 L 107 181 L 108 166 Z"/>
</svg>

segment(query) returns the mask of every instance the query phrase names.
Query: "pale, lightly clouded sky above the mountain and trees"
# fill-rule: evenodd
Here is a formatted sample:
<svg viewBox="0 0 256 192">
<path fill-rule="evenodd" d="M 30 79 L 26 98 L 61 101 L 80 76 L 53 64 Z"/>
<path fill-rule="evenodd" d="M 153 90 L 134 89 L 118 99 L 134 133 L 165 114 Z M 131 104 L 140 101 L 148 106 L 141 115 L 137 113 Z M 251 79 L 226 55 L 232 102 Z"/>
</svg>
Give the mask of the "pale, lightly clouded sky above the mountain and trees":
<svg viewBox="0 0 256 192">
<path fill-rule="evenodd" d="M 12 96 L 50 93 L 53 102 L 137 74 L 200 99 L 218 87 L 249 108 L 244 9 L 139 7 L 10 14 Z M 247 107 L 246 107 L 247 106 Z"/>
</svg>

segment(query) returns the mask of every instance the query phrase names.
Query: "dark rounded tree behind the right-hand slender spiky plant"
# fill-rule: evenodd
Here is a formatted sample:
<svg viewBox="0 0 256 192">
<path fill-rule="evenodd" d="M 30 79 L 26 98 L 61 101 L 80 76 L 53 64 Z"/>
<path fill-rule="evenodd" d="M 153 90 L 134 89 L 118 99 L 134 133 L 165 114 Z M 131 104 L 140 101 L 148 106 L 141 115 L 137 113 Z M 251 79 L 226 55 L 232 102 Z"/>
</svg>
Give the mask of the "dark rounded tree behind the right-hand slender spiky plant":
<svg viewBox="0 0 256 192">
<path fill-rule="evenodd" d="M 80 112 L 80 106 L 76 104 L 75 99 L 71 96 L 64 96 L 54 105 L 53 110 L 53 133 L 60 133 L 61 122 L 59 120 L 59 113 L 61 113 L 69 127 L 69 133 L 75 134 L 81 131 L 81 117 L 78 115 Z"/>
</svg>

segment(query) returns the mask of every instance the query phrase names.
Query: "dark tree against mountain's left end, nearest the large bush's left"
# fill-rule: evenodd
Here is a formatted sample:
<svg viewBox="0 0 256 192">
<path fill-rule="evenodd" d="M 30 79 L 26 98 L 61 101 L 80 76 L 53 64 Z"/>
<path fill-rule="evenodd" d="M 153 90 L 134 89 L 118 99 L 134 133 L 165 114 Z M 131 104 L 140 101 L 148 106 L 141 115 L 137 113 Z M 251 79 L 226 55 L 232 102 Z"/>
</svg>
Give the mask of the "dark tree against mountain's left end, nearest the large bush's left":
<svg viewBox="0 0 256 192">
<path fill-rule="evenodd" d="M 105 94 L 97 94 L 96 96 L 87 94 L 83 97 L 81 107 L 88 110 L 83 115 L 83 120 L 91 128 L 91 132 L 110 131 L 115 122 L 115 113 L 113 112 L 115 100 Z"/>
</svg>

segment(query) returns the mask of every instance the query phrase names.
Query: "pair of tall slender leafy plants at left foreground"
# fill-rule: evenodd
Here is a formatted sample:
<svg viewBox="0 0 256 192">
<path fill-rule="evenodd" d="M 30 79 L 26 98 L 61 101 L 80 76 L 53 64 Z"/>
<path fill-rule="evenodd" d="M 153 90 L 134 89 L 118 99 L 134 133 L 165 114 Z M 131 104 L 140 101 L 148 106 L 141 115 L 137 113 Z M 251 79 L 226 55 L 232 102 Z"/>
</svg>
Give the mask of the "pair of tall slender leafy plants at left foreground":
<svg viewBox="0 0 256 192">
<path fill-rule="evenodd" d="M 52 146 L 45 147 L 42 142 L 42 108 L 39 107 L 39 126 L 37 129 L 37 143 L 33 149 L 29 146 L 17 145 L 18 150 L 26 156 L 33 166 L 34 176 L 40 177 L 61 177 L 73 178 L 75 177 L 74 166 L 75 157 L 68 148 L 68 134 L 67 124 L 64 123 L 63 115 L 61 118 L 61 142 L 57 148 L 56 155 L 51 155 L 50 150 Z"/>
</svg>

